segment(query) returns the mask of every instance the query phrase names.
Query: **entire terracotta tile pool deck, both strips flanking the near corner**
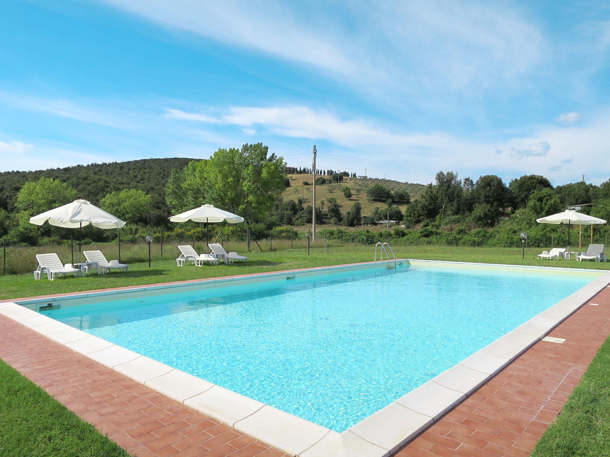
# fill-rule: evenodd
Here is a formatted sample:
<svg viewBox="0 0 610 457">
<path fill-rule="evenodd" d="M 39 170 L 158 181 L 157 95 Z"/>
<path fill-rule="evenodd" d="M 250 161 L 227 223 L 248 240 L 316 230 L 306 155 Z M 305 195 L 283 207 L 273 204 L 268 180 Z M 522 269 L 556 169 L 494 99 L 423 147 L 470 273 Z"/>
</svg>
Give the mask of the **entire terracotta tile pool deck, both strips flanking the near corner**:
<svg viewBox="0 0 610 457">
<path fill-rule="evenodd" d="M 9 317 L 0 332 L 2 360 L 134 455 L 285 456 Z M 609 334 L 605 288 L 551 331 L 563 344 L 537 342 L 395 455 L 529 455 Z"/>
</svg>

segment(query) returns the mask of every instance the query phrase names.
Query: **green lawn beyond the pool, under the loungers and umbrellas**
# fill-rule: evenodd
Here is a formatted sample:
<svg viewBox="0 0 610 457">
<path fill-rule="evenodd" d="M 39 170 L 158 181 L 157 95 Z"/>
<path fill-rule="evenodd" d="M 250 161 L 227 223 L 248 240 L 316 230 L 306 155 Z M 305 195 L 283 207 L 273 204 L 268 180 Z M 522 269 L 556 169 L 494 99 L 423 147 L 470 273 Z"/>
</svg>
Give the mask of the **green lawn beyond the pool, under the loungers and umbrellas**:
<svg viewBox="0 0 610 457">
<path fill-rule="evenodd" d="M 207 264 L 203 267 L 196 267 L 192 264 L 178 267 L 173 259 L 156 260 L 152 262 L 150 268 L 148 263 L 130 264 L 127 273 L 89 274 L 87 277 L 77 278 L 68 275 L 54 281 L 49 281 L 46 277 L 35 281 L 32 274 L 5 275 L 0 277 L 0 300 L 371 261 L 374 249 L 373 246 L 358 244 L 357 246 L 331 247 L 329 254 L 320 247 L 311 249 L 310 255 L 307 255 L 307 249 L 253 251 L 248 253 L 248 261 L 245 263 L 219 264 L 218 266 Z M 542 252 L 541 249 L 526 250 L 525 259 L 522 259 L 520 249 L 500 247 L 395 246 L 393 249 L 399 258 L 610 269 L 610 263 L 537 260 L 536 254 Z"/>
</svg>

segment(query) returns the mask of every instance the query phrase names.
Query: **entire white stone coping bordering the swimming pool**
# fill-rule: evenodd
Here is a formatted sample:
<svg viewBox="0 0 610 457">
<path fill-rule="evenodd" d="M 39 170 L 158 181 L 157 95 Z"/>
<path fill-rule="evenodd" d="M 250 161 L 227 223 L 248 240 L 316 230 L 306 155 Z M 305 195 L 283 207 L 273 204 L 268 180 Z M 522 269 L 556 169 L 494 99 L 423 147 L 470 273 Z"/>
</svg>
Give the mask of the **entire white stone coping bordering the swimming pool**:
<svg viewBox="0 0 610 457">
<path fill-rule="evenodd" d="M 562 267 L 536 267 L 469 262 L 443 262 L 413 260 L 413 262 L 450 263 L 460 265 L 561 269 Z M 321 272 L 349 267 L 381 266 L 381 263 L 361 263 L 338 267 L 303 269 L 298 272 Z M 243 433 L 259 439 L 292 456 L 323 457 L 386 457 L 396 452 L 404 444 L 414 439 L 445 413 L 461 403 L 482 384 L 490 380 L 511 361 L 514 361 L 529 347 L 550 333 L 567 317 L 598 292 L 610 285 L 610 272 L 600 270 L 569 269 L 601 273 L 583 288 L 569 297 L 550 306 L 525 324 L 509 331 L 506 335 L 473 353 L 465 360 L 422 384 L 385 408 L 356 423 L 342 433 L 321 427 L 308 420 L 285 413 L 277 408 L 244 395 L 224 389 L 171 366 L 152 360 L 120 345 L 89 335 L 48 316 L 33 311 L 16 302 L 0 303 L 0 314 L 14 319 L 20 324 L 45 335 L 53 341 L 69 347 L 107 367 L 156 389 L 190 408 L 201 411 L 220 422 L 226 423 Z M 275 274 L 252 275 L 248 277 L 209 280 L 207 283 L 230 281 L 240 278 L 260 278 L 268 276 L 290 276 L 297 271 Z M 198 282 L 200 284 L 201 282 Z M 176 287 L 164 285 L 159 288 Z M 48 299 L 24 300 L 51 302 L 75 297 L 99 296 L 156 289 L 155 286 L 129 288 L 120 291 L 92 292 L 76 296 L 49 297 Z M 53 300 L 51 300 L 53 299 Z M 19 302 L 20 300 L 16 300 Z"/>
</svg>

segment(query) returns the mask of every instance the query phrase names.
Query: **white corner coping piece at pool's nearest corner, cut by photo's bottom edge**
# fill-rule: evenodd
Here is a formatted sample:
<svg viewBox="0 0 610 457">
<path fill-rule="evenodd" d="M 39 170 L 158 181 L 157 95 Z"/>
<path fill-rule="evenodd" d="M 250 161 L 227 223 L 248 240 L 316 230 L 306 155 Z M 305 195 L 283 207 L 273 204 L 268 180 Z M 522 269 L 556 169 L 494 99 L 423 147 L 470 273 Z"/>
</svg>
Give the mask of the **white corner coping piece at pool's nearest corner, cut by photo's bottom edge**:
<svg viewBox="0 0 610 457">
<path fill-rule="evenodd" d="M 388 457 L 390 453 L 350 431 L 329 431 L 324 438 L 301 452 L 299 457 Z"/>
</svg>

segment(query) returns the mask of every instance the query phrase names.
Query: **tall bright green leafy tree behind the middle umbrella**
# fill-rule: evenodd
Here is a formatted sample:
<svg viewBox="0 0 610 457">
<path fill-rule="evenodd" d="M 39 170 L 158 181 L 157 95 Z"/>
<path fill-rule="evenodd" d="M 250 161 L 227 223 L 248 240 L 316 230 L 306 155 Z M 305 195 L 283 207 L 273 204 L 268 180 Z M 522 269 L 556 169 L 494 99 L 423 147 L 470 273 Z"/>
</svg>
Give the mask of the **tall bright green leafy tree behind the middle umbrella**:
<svg viewBox="0 0 610 457">
<path fill-rule="evenodd" d="M 177 212 L 208 203 L 264 222 L 284 190 L 284 169 L 284 160 L 269 155 L 262 143 L 244 144 L 241 150 L 221 148 L 208 160 L 188 163 L 182 176 L 172 173 L 168 203 Z"/>
</svg>

